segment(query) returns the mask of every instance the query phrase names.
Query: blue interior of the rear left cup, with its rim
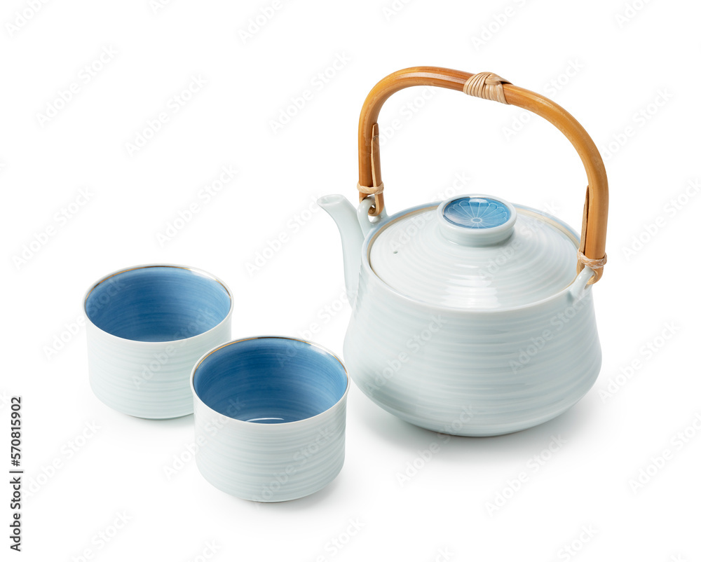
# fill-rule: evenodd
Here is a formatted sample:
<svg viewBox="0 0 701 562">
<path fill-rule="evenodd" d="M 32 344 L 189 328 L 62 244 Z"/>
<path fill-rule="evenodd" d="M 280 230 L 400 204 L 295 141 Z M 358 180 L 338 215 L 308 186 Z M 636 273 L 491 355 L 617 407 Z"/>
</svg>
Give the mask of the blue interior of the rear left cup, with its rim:
<svg viewBox="0 0 701 562">
<path fill-rule="evenodd" d="M 86 315 L 113 336 L 176 341 L 203 334 L 229 314 L 231 296 L 212 277 L 176 266 L 147 266 L 99 282 Z"/>
</svg>

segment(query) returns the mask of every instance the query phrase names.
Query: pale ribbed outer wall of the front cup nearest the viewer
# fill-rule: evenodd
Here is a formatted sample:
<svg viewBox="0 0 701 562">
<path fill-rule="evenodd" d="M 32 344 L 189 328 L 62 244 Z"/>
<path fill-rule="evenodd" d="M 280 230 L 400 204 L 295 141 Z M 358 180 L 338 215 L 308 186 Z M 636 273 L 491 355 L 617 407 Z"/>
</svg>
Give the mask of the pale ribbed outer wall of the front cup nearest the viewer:
<svg viewBox="0 0 701 562">
<path fill-rule="evenodd" d="M 212 410 L 195 395 L 196 462 L 219 490 L 257 502 L 319 491 L 343 467 L 346 395 L 327 411 L 292 423 L 253 423 Z"/>
</svg>

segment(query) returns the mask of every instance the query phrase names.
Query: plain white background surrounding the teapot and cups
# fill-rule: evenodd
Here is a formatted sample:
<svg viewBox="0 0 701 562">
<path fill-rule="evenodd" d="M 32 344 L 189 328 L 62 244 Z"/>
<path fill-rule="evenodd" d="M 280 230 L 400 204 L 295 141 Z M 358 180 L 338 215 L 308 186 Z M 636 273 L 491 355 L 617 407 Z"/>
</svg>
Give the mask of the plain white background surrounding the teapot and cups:
<svg viewBox="0 0 701 562">
<path fill-rule="evenodd" d="M 88 549 L 98 561 L 701 561 L 700 197 L 685 195 L 701 176 L 701 6 L 280 0 L 242 38 L 271 5 L 84 0 L 36 11 L 10 0 L 1 8 L 1 442 L 9 441 L 8 398 L 22 395 L 25 488 L 34 483 L 22 554 L 7 559 L 82 560 Z M 19 25 L 18 12 L 31 17 Z M 84 67 L 110 49 L 116 54 L 90 76 Z M 332 485 L 276 505 L 232 498 L 189 458 L 191 416 L 139 420 L 95 399 L 84 329 L 71 334 L 81 297 L 118 268 L 184 263 L 231 286 L 235 338 L 314 331 L 341 352 L 351 313 L 341 302 L 341 245 L 313 200 L 356 200 L 365 95 L 418 64 L 494 71 L 552 97 L 606 156 L 609 263 L 594 289 L 601 376 L 550 423 L 447 442 L 353 387 L 346 465 Z M 174 106 L 192 77 L 206 84 Z M 78 89 L 62 104 L 58 92 L 72 83 Z M 311 100 L 273 127 L 304 90 Z M 161 112 L 168 122 L 130 153 L 128 143 Z M 447 90 L 392 97 L 380 116 L 388 210 L 486 192 L 579 228 L 586 179 L 576 153 L 538 118 L 519 128 L 523 115 Z M 393 120 L 400 127 L 388 130 Z M 227 165 L 235 179 L 205 203 L 198 190 Z M 76 198 L 85 204 L 71 206 Z M 159 233 L 191 203 L 198 212 L 161 243 Z M 53 235 L 27 254 L 47 229 Z M 280 235 L 279 251 L 247 268 Z M 86 430 L 93 423 L 95 434 Z M 686 441 L 677 436 L 684 431 Z M 554 437 L 565 443 L 539 465 Z M 433 443 L 437 452 L 422 461 Z M 169 479 L 177 458 L 182 468 Z M 641 470 L 654 474 L 632 486 Z M 526 481 L 516 486 L 520 473 Z M 1 488 L 7 505 L 10 487 Z M 490 510 L 497 501 L 503 506 Z M 10 514 L 2 513 L 6 537 Z M 113 534 L 122 515 L 127 523 Z M 353 523 L 360 529 L 348 540 Z M 345 543 L 339 551 L 334 540 Z M 7 552 L 8 539 L 1 543 Z"/>
</svg>

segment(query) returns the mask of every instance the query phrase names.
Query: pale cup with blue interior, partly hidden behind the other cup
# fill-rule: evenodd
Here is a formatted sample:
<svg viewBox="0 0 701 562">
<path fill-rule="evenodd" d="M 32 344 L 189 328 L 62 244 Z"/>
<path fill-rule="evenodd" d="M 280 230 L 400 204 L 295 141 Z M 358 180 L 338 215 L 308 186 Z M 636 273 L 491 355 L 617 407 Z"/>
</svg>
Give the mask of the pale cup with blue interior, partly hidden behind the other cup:
<svg viewBox="0 0 701 562">
<path fill-rule="evenodd" d="M 83 299 L 90 386 L 111 408 L 165 419 L 193 411 L 193 365 L 231 338 L 233 300 L 222 280 L 185 266 L 118 270 Z"/>
</svg>

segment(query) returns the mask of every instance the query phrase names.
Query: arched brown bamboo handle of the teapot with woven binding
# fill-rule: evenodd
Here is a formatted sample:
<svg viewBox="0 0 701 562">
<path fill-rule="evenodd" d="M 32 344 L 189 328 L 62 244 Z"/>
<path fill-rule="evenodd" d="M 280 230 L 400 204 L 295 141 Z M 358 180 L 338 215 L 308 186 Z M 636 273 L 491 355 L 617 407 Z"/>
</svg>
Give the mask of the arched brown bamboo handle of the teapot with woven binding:
<svg viewBox="0 0 701 562">
<path fill-rule="evenodd" d="M 483 76 L 486 75 L 486 76 Z M 475 78 L 479 82 L 475 88 Z M 479 78 L 486 78 L 479 81 Z M 606 263 L 606 221 L 608 219 L 608 180 L 604 161 L 592 138 L 582 125 L 558 104 L 540 94 L 519 88 L 507 81 L 491 79 L 498 76 L 483 73 L 470 74 L 440 67 L 413 67 L 386 76 L 376 83 L 365 98 L 358 123 L 358 190 L 362 201 L 368 195 L 375 196 L 369 214 L 377 216 L 384 207 L 383 183 L 380 170 L 379 127 L 377 117 L 384 102 L 393 93 L 409 86 L 430 85 L 465 91 L 470 95 L 489 97 L 507 104 L 528 109 L 550 121 L 579 154 L 587 172 L 582 241 L 580 245 L 578 271 L 589 266 L 594 271 L 590 283 L 601 278 Z M 466 85 L 467 83 L 467 85 Z M 481 87 L 479 87 L 481 86 Z M 492 91 L 494 90 L 494 91 Z M 496 92 L 496 93 L 495 93 Z M 501 96 L 501 98 L 499 97 Z"/>
</svg>

